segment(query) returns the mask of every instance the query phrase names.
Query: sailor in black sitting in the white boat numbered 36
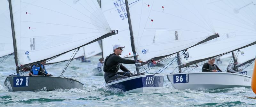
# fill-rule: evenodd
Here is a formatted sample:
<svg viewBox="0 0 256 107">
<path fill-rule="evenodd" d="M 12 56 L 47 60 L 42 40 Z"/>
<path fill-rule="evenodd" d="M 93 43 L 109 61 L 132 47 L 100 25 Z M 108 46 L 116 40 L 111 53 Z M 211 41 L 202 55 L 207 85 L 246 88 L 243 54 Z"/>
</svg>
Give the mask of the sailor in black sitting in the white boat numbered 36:
<svg viewBox="0 0 256 107">
<path fill-rule="evenodd" d="M 202 72 L 222 72 L 214 62 L 215 58 L 208 60 L 208 62 L 203 65 Z"/>
</svg>

